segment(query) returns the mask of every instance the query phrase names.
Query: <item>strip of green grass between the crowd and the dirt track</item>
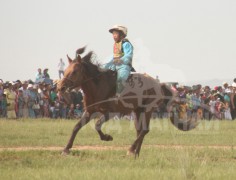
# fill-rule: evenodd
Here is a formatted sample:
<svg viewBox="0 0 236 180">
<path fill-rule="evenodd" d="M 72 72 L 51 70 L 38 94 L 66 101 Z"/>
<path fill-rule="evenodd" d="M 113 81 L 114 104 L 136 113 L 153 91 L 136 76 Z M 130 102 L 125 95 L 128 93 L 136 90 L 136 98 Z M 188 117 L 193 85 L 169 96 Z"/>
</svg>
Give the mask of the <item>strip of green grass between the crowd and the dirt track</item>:
<svg viewBox="0 0 236 180">
<path fill-rule="evenodd" d="M 75 120 L 0 120 L 0 147 L 64 146 Z M 103 131 L 113 136 L 112 142 L 100 141 L 95 121 L 79 131 L 75 145 L 130 145 L 136 138 L 132 121 L 110 120 Z M 201 121 L 189 132 L 177 130 L 168 120 L 151 121 L 144 144 L 236 145 L 236 121 Z"/>
</svg>

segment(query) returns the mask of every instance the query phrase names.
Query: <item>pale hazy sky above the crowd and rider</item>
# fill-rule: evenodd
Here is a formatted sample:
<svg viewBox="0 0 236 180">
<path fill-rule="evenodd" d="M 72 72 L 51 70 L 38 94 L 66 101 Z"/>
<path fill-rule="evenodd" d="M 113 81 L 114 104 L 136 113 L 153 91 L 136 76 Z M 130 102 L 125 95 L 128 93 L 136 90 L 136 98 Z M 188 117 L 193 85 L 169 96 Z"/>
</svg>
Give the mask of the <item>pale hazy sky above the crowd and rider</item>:
<svg viewBox="0 0 236 180">
<path fill-rule="evenodd" d="M 235 0 L 0 0 L 0 79 L 35 80 L 87 45 L 100 64 L 108 29 L 128 28 L 133 66 L 161 82 L 236 78 Z"/>
</svg>

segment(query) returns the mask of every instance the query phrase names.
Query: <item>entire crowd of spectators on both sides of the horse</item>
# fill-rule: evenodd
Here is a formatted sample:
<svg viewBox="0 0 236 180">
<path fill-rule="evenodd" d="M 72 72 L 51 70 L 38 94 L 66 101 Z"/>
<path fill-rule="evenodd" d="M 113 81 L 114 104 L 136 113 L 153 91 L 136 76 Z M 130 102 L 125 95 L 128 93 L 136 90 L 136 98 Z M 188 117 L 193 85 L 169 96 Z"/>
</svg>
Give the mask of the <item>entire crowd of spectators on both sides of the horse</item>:
<svg viewBox="0 0 236 180">
<path fill-rule="evenodd" d="M 48 70 L 38 69 L 36 80 L 3 82 L 0 80 L 0 117 L 2 118 L 79 118 L 83 112 L 83 92 L 71 92 L 73 103 L 67 105 L 63 96 L 56 90 L 56 83 L 48 81 Z M 44 76 L 43 74 L 46 74 Z M 43 79 L 43 81 L 41 81 Z M 179 103 L 173 111 L 180 118 L 236 119 L 236 78 L 210 88 L 200 84 L 171 88 L 177 94 Z M 165 107 L 157 109 L 158 117 L 165 117 Z"/>
</svg>

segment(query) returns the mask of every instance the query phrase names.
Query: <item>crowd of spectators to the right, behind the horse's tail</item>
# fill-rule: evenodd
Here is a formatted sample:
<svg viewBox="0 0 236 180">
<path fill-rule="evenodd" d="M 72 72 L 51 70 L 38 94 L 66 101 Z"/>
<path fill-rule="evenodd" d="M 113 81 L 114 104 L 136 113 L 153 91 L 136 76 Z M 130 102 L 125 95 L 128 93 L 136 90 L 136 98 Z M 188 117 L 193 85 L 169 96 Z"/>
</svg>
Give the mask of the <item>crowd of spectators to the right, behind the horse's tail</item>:
<svg viewBox="0 0 236 180">
<path fill-rule="evenodd" d="M 236 119 L 236 78 L 232 84 L 224 82 L 210 88 L 200 84 L 189 86 L 171 85 L 178 97 L 173 111 L 181 119 Z M 161 116 L 162 110 L 158 110 Z"/>
</svg>

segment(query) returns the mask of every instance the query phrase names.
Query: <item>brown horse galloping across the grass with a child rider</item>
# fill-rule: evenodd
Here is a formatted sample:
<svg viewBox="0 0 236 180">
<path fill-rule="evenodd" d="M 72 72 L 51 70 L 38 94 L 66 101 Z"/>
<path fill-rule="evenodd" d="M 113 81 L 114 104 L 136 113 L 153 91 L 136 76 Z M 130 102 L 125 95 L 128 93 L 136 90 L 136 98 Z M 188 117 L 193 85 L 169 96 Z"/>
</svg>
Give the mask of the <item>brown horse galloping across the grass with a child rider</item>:
<svg viewBox="0 0 236 180">
<path fill-rule="evenodd" d="M 128 150 L 129 154 L 139 156 L 144 136 L 149 132 L 149 123 L 155 107 L 164 103 L 166 107 L 175 102 L 175 95 L 165 84 L 160 84 L 146 74 L 131 74 L 125 88 L 119 98 L 114 97 L 116 92 L 117 74 L 111 70 L 103 70 L 92 62 L 93 52 L 89 52 L 81 58 L 80 54 L 85 48 L 77 50 L 74 60 L 69 59 L 69 66 L 65 70 L 64 78 L 58 84 L 58 90 L 66 94 L 66 90 L 81 87 L 84 92 L 85 111 L 75 125 L 68 144 L 63 154 L 68 154 L 78 131 L 91 119 L 100 114 L 96 122 L 101 140 L 112 141 L 112 136 L 104 134 L 102 124 L 114 115 L 135 114 L 135 128 L 137 139 Z M 68 102 L 70 98 L 66 98 Z M 180 120 L 178 116 L 171 116 L 171 122 L 180 130 L 190 130 L 196 127 L 196 123 L 190 120 Z"/>
</svg>

